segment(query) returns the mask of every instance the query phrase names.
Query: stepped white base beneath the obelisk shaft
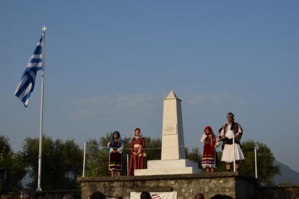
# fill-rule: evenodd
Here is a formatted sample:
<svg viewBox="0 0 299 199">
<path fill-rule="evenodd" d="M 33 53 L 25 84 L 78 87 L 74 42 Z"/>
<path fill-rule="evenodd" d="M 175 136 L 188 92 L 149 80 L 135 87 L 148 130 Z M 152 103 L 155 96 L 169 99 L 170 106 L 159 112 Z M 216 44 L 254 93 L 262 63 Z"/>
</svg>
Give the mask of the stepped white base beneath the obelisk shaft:
<svg viewBox="0 0 299 199">
<path fill-rule="evenodd" d="M 148 169 L 136 169 L 134 175 L 165 175 L 165 174 L 191 174 L 205 173 L 198 169 L 198 163 L 192 160 L 149 160 Z"/>
</svg>

